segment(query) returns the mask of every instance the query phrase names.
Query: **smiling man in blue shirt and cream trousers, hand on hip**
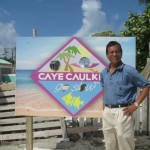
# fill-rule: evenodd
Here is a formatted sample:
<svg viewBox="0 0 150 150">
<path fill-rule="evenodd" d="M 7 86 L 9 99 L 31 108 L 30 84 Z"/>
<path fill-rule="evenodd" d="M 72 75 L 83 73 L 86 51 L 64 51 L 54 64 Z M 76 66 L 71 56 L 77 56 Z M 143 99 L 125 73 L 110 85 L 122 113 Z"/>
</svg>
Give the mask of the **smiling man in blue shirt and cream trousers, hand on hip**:
<svg viewBox="0 0 150 150">
<path fill-rule="evenodd" d="M 121 61 L 122 53 L 118 42 L 110 41 L 107 44 L 106 56 L 110 64 L 101 73 L 106 150 L 134 150 L 133 112 L 150 90 L 148 81 L 134 67 Z M 137 87 L 143 89 L 138 97 Z"/>
</svg>

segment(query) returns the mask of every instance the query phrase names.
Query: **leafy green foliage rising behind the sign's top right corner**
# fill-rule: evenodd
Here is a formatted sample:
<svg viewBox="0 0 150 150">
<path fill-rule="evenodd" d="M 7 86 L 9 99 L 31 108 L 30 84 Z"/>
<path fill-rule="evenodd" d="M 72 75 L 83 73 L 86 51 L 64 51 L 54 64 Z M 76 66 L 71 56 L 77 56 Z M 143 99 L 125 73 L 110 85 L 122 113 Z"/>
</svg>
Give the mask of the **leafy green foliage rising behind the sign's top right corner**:
<svg viewBox="0 0 150 150">
<path fill-rule="evenodd" d="M 125 26 L 127 28 L 122 30 L 119 35 L 115 35 L 112 31 L 104 31 L 101 33 L 95 33 L 92 36 L 136 37 L 136 68 L 139 71 L 142 71 L 150 55 L 150 5 L 146 6 L 144 12 L 141 15 L 130 12 L 128 20 L 125 22 Z"/>
</svg>

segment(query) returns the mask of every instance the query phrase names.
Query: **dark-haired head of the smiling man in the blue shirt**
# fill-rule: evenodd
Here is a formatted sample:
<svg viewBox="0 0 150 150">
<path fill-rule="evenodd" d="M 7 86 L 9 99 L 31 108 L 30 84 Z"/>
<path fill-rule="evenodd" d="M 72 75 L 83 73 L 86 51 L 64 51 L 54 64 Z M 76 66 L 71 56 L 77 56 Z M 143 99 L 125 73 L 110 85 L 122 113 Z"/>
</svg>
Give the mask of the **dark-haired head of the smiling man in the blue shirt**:
<svg viewBox="0 0 150 150">
<path fill-rule="evenodd" d="M 116 41 L 110 41 L 106 46 L 106 56 L 111 64 L 118 64 L 122 58 L 121 45 Z"/>
</svg>

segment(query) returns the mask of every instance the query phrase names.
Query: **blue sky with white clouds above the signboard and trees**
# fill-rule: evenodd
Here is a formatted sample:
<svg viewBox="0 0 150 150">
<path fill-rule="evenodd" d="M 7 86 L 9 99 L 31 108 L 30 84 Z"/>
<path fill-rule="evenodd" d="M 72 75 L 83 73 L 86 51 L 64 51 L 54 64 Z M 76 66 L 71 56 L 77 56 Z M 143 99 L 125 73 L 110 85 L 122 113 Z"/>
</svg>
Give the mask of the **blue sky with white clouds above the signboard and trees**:
<svg viewBox="0 0 150 150">
<path fill-rule="evenodd" d="M 16 37 L 90 36 L 124 28 L 128 13 L 142 13 L 138 0 L 0 0 L 0 48 L 15 46 Z"/>
</svg>

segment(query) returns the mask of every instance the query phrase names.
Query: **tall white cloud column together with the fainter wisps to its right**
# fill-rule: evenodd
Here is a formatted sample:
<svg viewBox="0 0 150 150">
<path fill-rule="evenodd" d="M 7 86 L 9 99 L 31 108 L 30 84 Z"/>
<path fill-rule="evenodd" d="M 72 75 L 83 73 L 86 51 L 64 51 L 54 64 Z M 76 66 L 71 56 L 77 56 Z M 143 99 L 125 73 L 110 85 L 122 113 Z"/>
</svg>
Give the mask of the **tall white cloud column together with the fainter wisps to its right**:
<svg viewBox="0 0 150 150">
<path fill-rule="evenodd" d="M 120 15 L 116 12 L 107 22 L 107 14 L 102 10 L 100 0 L 83 0 L 82 2 L 82 26 L 75 33 L 76 36 L 89 36 L 96 32 L 112 30 L 119 33 L 123 25 L 117 25 Z"/>
</svg>

